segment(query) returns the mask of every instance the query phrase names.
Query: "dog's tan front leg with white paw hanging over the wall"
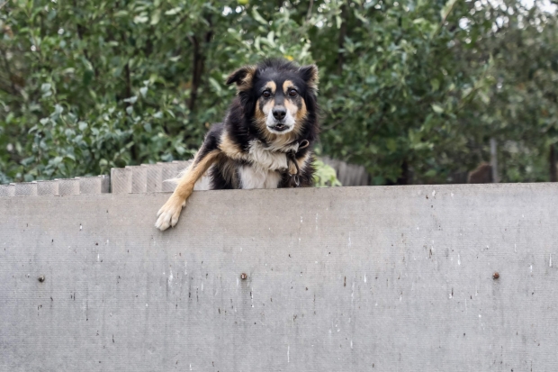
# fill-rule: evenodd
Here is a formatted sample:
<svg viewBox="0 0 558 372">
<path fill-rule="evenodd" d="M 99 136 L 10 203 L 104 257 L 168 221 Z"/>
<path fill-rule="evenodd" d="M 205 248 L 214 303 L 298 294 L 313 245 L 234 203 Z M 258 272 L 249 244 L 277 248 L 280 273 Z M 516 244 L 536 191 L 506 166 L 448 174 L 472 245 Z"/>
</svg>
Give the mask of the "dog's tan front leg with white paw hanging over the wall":
<svg viewBox="0 0 558 372">
<path fill-rule="evenodd" d="M 220 150 L 211 150 L 204 155 L 200 155 L 200 151 L 193 159 L 193 164 L 186 170 L 184 176 L 180 178 L 175 192 L 166 201 L 165 205 L 157 212 L 157 222 L 155 227 L 160 231 L 165 231 L 169 227 L 175 227 L 180 217 L 182 208 L 186 205 L 186 199 L 192 195 L 193 186 L 203 174 L 217 160 Z"/>
</svg>

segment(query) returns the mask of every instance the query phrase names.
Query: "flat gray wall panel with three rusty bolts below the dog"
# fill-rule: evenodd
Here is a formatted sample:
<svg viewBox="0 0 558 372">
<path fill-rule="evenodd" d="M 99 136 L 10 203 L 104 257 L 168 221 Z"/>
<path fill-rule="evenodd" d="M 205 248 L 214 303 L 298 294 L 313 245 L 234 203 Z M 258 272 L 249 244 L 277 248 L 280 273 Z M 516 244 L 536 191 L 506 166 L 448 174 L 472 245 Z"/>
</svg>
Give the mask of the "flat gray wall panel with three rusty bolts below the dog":
<svg viewBox="0 0 558 372">
<path fill-rule="evenodd" d="M 558 370 L 556 185 L 167 196 L 0 198 L 0 370 Z"/>
</svg>

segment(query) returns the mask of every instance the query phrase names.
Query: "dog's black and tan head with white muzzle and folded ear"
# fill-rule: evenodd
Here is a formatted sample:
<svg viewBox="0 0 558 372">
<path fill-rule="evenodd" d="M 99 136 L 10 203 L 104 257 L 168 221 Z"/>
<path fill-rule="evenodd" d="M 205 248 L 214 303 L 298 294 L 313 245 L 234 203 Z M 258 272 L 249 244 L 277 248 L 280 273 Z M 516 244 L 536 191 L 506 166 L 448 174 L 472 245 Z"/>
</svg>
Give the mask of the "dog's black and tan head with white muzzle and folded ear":
<svg viewBox="0 0 558 372">
<path fill-rule="evenodd" d="M 316 65 L 299 68 L 283 59 L 267 59 L 233 72 L 227 79 L 232 83 L 237 84 L 245 113 L 264 134 L 300 132 L 309 113 L 315 116 Z"/>
</svg>

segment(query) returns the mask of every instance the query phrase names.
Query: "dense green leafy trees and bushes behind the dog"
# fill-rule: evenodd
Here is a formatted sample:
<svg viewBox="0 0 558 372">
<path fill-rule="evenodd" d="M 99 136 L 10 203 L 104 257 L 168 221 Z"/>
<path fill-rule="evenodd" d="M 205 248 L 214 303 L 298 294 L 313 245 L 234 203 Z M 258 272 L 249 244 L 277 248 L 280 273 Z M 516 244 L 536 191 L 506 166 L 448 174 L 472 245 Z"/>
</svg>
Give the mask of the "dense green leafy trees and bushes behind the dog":
<svg viewBox="0 0 558 372">
<path fill-rule="evenodd" d="M 492 3 L 11 0 L 0 182 L 187 159 L 234 95 L 227 74 L 272 56 L 318 64 L 320 150 L 377 184 L 446 182 L 491 138 L 503 180 L 547 180 L 556 14 Z"/>
</svg>

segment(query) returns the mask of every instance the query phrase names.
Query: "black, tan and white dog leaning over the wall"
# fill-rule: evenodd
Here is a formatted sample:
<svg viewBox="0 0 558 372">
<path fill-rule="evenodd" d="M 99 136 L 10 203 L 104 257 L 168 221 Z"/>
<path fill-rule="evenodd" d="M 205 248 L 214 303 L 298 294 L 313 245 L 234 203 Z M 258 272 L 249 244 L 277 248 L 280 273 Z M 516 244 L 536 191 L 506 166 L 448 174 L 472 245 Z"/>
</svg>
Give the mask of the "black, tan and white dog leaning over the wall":
<svg viewBox="0 0 558 372">
<path fill-rule="evenodd" d="M 214 190 L 312 186 L 312 145 L 320 131 L 318 80 L 316 65 L 298 67 L 284 59 L 266 59 L 230 74 L 226 84 L 236 84 L 237 95 L 159 209 L 157 229 L 175 227 L 206 172 Z"/>
</svg>

